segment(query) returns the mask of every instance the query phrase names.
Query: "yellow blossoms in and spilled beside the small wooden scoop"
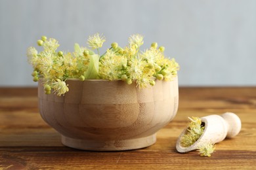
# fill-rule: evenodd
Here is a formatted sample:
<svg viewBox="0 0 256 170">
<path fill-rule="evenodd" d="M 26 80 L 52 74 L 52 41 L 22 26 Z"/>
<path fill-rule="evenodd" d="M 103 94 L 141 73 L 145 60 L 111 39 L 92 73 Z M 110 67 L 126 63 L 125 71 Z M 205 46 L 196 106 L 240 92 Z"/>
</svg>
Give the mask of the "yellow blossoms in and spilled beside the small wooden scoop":
<svg viewBox="0 0 256 170">
<path fill-rule="evenodd" d="M 188 117 L 189 118 L 189 117 Z M 188 124 L 187 132 L 181 137 L 181 145 L 184 147 L 191 146 L 194 144 L 203 134 L 204 126 L 202 120 L 198 117 L 189 118 L 190 123 Z M 198 151 L 201 156 L 211 156 L 215 150 L 215 144 L 204 143 L 202 146 L 198 147 Z"/>
</svg>

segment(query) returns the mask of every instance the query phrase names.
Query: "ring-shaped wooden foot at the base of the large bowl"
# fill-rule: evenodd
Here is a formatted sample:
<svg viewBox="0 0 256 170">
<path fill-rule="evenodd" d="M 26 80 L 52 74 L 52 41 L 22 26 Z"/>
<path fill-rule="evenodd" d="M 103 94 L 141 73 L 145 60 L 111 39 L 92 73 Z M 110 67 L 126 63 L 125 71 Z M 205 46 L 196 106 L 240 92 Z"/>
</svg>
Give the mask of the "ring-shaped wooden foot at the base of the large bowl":
<svg viewBox="0 0 256 170">
<path fill-rule="evenodd" d="M 156 143 L 156 133 L 148 137 L 140 137 L 137 139 L 123 139 L 116 141 L 97 141 L 87 139 L 74 139 L 62 135 L 62 144 L 71 148 L 81 150 L 95 150 L 95 151 L 117 151 L 117 150 L 133 150 L 138 148 L 145 148 Z"/>
</svg>

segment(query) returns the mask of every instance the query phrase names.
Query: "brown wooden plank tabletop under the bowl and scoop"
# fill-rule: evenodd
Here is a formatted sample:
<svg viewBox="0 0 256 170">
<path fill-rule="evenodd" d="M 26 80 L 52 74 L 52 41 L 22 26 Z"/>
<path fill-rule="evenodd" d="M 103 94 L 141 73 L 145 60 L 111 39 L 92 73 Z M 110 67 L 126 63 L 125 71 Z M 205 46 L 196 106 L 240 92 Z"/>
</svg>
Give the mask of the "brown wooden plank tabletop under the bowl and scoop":
<svg viewBox="0 0 256 170">
<path fill-rule="evenodd" d="M 0 88 L 0 169 L 256 169 L 256 87 L 180 88 L 179 110 L 156 144 L 123 152 L 87 152 L 60 143 L 43 122 L 36 88 Z M 211 157 L 180 154 L 177 137 L 188 116 L 235 112 L 242 130 Z"/>
</svg>

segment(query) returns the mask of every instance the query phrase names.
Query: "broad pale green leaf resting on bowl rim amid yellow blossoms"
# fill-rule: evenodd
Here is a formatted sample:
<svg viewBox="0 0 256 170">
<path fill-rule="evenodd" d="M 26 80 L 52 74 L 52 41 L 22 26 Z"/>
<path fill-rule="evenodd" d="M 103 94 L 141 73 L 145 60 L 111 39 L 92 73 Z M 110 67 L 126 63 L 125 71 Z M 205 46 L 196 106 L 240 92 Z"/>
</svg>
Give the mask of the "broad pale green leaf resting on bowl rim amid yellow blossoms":
<svg viewBox="0 0 256 170">
<path fill-rule="evenodd" d="M 85 79 L 96 79 L 98 77 L 98 59 L 100 56 L 94 54 L 90 56 L 90 63 L 87 71 L 85 71 Z"/>
</svg>

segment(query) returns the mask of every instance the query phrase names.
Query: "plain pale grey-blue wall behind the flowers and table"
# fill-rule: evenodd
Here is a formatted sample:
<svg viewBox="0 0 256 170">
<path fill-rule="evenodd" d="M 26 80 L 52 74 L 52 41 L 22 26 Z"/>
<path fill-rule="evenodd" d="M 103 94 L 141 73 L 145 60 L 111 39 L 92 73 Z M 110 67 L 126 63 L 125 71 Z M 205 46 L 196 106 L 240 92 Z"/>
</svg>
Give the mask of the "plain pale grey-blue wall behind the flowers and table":
<svg viewBox="0 0 256 170">
<path fill-rule="evenodd" d="M 181 65 L 180 86 L 255 86 L 256 1 L 0 0 L 0 86 L 37 86 L 26 49 L 41 35 L 60 50 L 85 46 L 89 35 L 127 44 L 144 35 Z M 40 48 L 37 48 L 40 50 Z"/>
</svg>

